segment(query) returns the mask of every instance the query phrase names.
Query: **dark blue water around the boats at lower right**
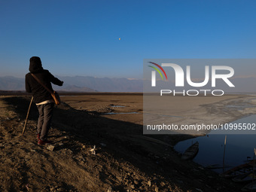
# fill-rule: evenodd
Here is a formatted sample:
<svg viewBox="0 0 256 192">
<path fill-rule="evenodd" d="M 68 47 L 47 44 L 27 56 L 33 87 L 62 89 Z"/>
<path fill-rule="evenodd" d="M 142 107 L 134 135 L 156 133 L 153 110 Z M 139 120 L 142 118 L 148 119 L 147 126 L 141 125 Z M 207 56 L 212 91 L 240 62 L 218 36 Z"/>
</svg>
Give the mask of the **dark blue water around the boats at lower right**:
<svg viewBox="0 0 256 192">
<path fill-rule="evenodd" d="M 244 117 L 230 123 L 256 123 L 256 115 Z M 221 134 L 220 134 L 221 133 Z M 227 144 L 225 150 L 224 162 L 227 166 L 238 166 L 245 163 L 246 160 L 253 160 L 254 148 L 256 148 L 256 130 L 251 130 L 250 134 L 228 134 L 230 132 L 222 132 L 215 130 L 209 133 L 208 136 L 200 136 L 195 139 L 188 139 L 183 142 L 178 142 L 175 145 L 175 150 L 181 153 L 192 145 L 194 142 L 199 142 L 199 152 L 194 158 L 194 162 L 202 166 L 214 164 L 223 165 L 224 157 L 224 139 L 227 136 Z M 238 132 L 239 133 L 239 132 Z M 250 157 L 250 158 L 249 158 Z M 217 172 L 221 170 L 215 169 Z"/>
</svg>

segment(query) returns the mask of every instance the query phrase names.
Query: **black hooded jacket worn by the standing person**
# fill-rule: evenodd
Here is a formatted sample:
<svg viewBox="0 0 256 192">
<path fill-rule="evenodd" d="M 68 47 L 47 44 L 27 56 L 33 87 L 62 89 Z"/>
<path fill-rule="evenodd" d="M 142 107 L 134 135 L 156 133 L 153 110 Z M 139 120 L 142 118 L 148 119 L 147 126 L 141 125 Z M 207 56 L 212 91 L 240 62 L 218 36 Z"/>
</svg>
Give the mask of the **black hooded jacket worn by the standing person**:
<svg viewBox="0 0 256 192">
<path fill-rule="evenodd" d="M 48 92 L 35 78 L 32 77 L 31 73 L 34 74 L 42 84 L 53 91 L 51 83 L 62 86 L 63 81 L 59 81 L 50 74 L 49 71 L 43 69 L 41 65 L 41 59 L 38 56 L 32 56 L 29 60 L 29 73 L 26 74 L 26 92 L 32 93 L 35 103 L 44 102 L 49 99 L 53 99 Z"/>
</svg>

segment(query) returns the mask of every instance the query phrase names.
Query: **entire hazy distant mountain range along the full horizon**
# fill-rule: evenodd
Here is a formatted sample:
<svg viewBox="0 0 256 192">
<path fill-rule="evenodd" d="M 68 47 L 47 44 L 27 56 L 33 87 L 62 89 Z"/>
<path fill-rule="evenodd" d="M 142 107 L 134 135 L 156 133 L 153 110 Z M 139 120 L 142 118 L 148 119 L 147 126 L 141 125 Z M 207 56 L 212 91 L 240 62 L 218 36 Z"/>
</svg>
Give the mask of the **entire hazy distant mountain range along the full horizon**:
<svg viewBox="0 0 256 192">
<path fill-rule="evenodd" d="M 143 92 L 143 80 L 127 78 L 93 78 L 84 76 L 60 77 L 64 81 L 62 87 L 53 85 L 54 90 L 69 92 Z M 255 93 L 255 77 L 236 77 L 230 79 L 235 87 L 228 87 L 224 81 L 218 80 L 216 87 L 212 87 L 211 81 L 205 87 L 175 87 L 174 81 L 157 81 L 157 87 L 151 87 L 151 81 L 147 81 L 145 92 L 159 92 L 160 89 L 168 90 L 224 90 L 225 93 Z M 201 82 L 201 80 L 199 81 Z M 25 78 L 11 76 L 0 77 L 0 90 L 25 90 Z"/>
</svg>

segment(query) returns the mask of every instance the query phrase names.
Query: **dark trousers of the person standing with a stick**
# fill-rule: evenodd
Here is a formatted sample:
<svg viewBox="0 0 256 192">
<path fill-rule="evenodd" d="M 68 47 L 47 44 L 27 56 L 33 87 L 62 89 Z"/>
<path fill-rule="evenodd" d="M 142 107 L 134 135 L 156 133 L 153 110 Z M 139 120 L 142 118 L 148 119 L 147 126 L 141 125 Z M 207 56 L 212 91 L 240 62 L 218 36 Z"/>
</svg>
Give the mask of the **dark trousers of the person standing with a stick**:
<svg viewBox="0 0 256 192">
<path fill-rule="evenodd" d="M 51 119 L 53 117 L 53 106 L 54 103 L 37 105 L 39 112 L 37 133 L 40 135 L 41 141 L 47 140 Z"/>
</svg>

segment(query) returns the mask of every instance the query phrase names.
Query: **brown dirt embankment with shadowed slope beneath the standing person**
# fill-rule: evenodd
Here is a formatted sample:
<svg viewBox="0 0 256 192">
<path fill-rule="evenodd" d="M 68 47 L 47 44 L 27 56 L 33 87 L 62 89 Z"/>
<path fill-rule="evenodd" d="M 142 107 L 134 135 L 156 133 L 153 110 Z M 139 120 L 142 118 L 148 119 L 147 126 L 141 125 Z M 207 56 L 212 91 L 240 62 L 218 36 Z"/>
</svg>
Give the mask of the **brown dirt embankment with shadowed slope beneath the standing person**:
<svg viewBox="0 0 256 192">
<path fill-rule="evenodd" d="M 53 151 L 37 145 L 38 116 L 29 97 L 0 99 L 0 191 L 236 191 L 229 180 L 191 161 L 169 144 L 145 139 L 142 126 L 67 104 L 53 114 Z M 95 146 L 95 149 L 93 150 Z"/>
</svg>

